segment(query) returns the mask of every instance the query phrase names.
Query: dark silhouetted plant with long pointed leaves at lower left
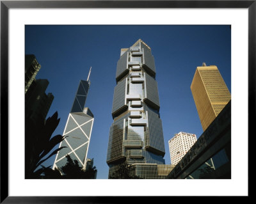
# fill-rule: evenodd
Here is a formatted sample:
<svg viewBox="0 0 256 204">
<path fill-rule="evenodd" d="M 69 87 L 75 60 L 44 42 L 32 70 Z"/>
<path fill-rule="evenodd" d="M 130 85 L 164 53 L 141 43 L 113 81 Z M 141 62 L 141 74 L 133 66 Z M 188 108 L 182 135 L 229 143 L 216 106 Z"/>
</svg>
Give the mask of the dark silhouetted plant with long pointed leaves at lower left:
<svg viewBox="0 0 256 204">
<path fill-rule="evenodd" d="M 49 168 L 41 168 L 36 170 L 40 164 L 58 153 L 62 146 L 53 152 L 51 152 L 54 146 L 58 145 L 64 136 L 56 135 L 52 136 L 52 133 L 56 129 L 60 122 L 58 118 L 58 112 L 56 111 L 51 117 L 34 122 L 29 116 L 26 116 L 25 121 L 25 178 L 40 178 L 40 175 Z M 49 154 L 43 159 L 47 154 Z M 36 170 L 36 171 L 35 171 Z"/>
</svg>

